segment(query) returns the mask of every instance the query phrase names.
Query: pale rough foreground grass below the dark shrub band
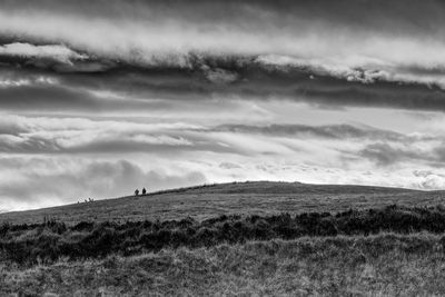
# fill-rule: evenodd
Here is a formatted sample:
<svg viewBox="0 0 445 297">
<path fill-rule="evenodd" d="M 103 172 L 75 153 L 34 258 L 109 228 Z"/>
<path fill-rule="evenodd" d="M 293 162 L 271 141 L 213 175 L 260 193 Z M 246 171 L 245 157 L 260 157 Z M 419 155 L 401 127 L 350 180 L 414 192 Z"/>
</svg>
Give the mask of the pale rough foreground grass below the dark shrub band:
<svg viewBox="0 0 445 297">
<path fill-rule="evenodd" d="M 443 296 L 431 234 L 304 237 L 134 257 L 0 266 L 0 296 Z"/>
</svg>

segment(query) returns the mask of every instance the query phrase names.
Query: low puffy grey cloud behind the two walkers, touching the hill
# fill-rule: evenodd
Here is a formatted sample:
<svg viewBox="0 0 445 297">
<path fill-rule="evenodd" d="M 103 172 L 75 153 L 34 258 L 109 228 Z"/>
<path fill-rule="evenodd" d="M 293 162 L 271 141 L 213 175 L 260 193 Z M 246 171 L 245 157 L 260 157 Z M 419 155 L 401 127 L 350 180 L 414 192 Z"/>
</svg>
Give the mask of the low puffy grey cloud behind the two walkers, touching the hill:
<svg viewBox="0 0 445 297">
<path fill-rule="evenodd" d="M 1 160 L 4 165 L 4 159 Z M 18 168 L 36 164 L 53 167 L 55 162 L 44 160 L 22 161 L 9 160 Z M 59 199 L 59 202 L 73 202 L 76 200 L 93 197 L 110 198 L 131 195 L 136 188 L 147 187 L 149 190 L 185 187 L 206 182 L 206 177 L 196 171 L 184 175 L 168 175 L 152 170 L 142 170 L 129 161 L 113 162 L 93 161 L 81 169 L 71 169 L 65 172 L 44 174 L 44 170 L 28 170 L 20 180 L 2 184 L 0 196 L 1 207 L 8 202 L 44 206 L 47 199 Z"/>
</svg>

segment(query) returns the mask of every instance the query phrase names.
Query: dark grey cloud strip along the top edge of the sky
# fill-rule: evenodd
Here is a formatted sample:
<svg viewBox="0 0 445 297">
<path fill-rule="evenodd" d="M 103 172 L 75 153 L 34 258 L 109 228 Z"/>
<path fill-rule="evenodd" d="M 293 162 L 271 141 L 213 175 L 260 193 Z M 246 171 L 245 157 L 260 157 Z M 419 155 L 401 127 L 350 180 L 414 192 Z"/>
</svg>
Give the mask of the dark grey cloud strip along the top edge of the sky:
<svg viewBox="0 0 445 297">
<path fill-rule="evenodd" d="M 59 13 L 80 13 L 86 17 L 142 18 L 147 16 L 182 18 L 195 22 L 215 21 L 217 23 L 240 20 L 255 12 L 265 11 L 275 17 L 275 23 L 288 23 L 298 18 L 322 19 L 334 24 L 350 24 L 363 28 L 406 28 L 407 30 L 434 30 L 434 24 L 443 23 L 444 6 L 438 0 L 42 0 L 1 1 L 7 10 L 41 9 Z M 256 16 L 255 20 L 261 16 Z M 280 18 L 279 18 L 280 17 Z M 411 21 L 416 19 L 415 22 Z M 244 20 L 248 23 L 249 20 Z M 389 27 L 390 26 L 390 27 Z"/>
</svg>

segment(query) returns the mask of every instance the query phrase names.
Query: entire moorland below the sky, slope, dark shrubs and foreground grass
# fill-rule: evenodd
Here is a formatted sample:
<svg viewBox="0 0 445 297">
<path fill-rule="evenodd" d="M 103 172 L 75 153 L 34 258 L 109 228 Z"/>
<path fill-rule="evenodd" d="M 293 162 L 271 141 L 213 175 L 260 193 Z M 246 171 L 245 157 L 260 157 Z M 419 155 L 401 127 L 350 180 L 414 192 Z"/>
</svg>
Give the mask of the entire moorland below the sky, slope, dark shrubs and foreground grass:
<svg viewBox="0 0 445 297">
<path fill-rule="evenodd" d="M 2 214 L 0 296 L 445 296 L 444 197 L 240 182 Z"/>
</svg>

